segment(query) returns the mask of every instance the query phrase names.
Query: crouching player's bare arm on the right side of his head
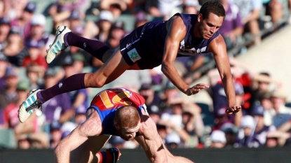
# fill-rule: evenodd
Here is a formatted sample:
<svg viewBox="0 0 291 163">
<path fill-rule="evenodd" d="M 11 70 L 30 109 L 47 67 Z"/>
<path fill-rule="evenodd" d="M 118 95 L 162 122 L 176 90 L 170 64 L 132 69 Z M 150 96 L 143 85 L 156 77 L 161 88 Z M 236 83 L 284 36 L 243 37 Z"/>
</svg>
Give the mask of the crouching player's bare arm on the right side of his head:
<svg viewBox="0 0 291 163">
<path fill-rule="evenodd" d="M 135 140 L 140 143 L 151 162 L 170 161 L 168 160 L 161 137 L 156 130 L 156 124 L 143 110 L 142 114 L 142 125 L 139 129 L 141 136 L 135 137 Z"/>
</svg>

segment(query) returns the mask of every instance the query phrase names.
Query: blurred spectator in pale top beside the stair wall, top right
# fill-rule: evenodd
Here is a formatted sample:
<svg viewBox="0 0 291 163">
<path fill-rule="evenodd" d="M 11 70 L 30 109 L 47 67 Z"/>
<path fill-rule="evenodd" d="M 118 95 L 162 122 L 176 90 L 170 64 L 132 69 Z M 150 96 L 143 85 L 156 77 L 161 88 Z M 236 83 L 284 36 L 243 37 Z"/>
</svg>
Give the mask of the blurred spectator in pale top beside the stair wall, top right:
<svg viewBox="0 0 291 163">
<path fill-rule="evenodd" d="M 259 36 L 259 14 L 262 10 L 262 0 L 231 0 L 236 3 L 240 9 L 243 24 L 245 24 L 244 32 L 250 32 L 254 36 L 254 44 L 261 42 Z"/>
</svg>

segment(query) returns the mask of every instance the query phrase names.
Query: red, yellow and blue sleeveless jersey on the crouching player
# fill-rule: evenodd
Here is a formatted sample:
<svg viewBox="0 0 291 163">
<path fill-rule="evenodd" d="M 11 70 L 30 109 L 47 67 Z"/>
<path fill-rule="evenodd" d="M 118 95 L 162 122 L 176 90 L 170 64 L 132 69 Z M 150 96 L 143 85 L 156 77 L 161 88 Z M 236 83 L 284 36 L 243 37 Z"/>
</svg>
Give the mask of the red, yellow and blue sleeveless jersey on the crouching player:
<svg viewBox="0 0 291 163">
<path fill-rule="evenodd" d="M 135 106 L 142 115 L 144 98 L 133 91 L 123 87 L 103 90 L 92 100 L 90 108 L 95 108 L 102 122 L 102 134 L 116 135 L 114 127 L 114 115 L 121 106 Z"/>
</svg>

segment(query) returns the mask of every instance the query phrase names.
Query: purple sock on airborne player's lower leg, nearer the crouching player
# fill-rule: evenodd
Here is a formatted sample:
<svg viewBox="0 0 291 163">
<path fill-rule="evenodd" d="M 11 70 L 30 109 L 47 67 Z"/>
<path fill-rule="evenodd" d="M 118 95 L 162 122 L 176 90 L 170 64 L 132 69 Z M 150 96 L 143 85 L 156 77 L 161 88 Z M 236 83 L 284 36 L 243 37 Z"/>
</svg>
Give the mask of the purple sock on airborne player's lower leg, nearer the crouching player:
<svg viewBox="0 0 291 163">
<path fill-rule="evenodd" d="M 65 78 L 53 87 L 37 92 L 37 99 L 39 99 L 39 101 L 43 104 L 58 94 L 86 88 L 84 84 L 85 74 L 86 73 L 77 73 L 73 76 L 69 76 L 69 78 Z"/>
</svg>

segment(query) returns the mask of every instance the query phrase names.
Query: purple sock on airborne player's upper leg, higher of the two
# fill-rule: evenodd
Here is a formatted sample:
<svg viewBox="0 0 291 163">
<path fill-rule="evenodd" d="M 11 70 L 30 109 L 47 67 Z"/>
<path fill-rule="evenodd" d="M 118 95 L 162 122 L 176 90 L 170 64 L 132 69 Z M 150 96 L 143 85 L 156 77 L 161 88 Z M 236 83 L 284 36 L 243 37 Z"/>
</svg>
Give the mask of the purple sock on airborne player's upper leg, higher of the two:
<svg viewBox="0 0 291 163">
<path fill-rule="evenodd" d="M 83 50 L 86 50 L 86 52 L 89 52 L 90 55 L 93 55 L 93 57 L 100 59 L 100 61 L 102 61 L 104 52 L 110 49 L 105 43 L 102 43 L 101 41 L 83 38 L 74 34 L 73 32 L 65 34 L 64 41 L 66 46 L 72 45 L 82 48 Z"/>
</svg>

